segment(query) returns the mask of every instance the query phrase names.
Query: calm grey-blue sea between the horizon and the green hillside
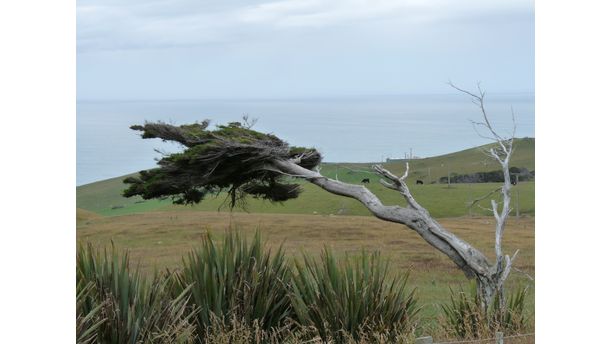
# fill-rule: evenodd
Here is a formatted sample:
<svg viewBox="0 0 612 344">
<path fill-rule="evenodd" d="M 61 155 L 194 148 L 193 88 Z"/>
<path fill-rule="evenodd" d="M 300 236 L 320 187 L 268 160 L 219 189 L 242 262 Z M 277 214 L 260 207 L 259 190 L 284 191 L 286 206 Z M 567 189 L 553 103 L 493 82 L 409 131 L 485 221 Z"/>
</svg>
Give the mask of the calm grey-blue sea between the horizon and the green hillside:
<svg viewBox="0 0 612 344">
<path fill-rule="evenodd" d="M 534 97 L 490 95 L 489 117 L 502 133 L 534 137 Z M 254 129 L 293 145 L 314 146 L 328 162 L 373 162 L 410 152 L 427 157 L 488 143 L 470 120 L 481 114 L 463 95 L 370 96 L 296 100 L 181 100 L 77 102 L 77 185 L 155 166 L 154 151 L 180 146 L 143 140 L 130 125 L 175 124 L 203 119 L 213 124 L 258 119 Z"/>
</svg>

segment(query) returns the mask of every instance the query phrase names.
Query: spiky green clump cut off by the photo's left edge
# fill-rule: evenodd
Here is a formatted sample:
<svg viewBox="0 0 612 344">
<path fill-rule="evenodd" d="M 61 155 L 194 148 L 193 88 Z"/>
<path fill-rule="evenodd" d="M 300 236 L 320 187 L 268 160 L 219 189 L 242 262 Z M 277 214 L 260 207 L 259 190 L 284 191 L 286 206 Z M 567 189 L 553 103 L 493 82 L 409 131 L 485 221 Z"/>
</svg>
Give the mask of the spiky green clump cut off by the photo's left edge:
<svg viewBox="0 0 612 344">
<path fill-rule="evenodd" d="M 188 289 L 168 297 L 168 277 L 152 283 L 121 258 L 92 245 L 77 251 L 77 335 L 82 343 L 190 343 Z M 80 341 L 81 343 L 81 341 Z"/>
</svg>

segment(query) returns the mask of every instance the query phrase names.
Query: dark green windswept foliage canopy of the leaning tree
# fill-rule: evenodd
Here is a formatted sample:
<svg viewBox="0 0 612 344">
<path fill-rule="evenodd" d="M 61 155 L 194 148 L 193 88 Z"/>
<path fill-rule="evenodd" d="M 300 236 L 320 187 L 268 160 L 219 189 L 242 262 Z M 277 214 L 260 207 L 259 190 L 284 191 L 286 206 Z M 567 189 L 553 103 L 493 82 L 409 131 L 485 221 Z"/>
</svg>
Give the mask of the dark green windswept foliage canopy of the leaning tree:
<svg viewBox="0 0 612 344">
<path fill-rule="evenodd" d="M 272 134 L 252 130 L 244 123 L 231 122 L 208 129 L 210 121 L 175 126 L 163 122 L 134 125 L 142 138 L 180 143 L 185 150 L 165 155 L 159 167 L 140 171 L 124 183 L 125 197 L 172 198 L 176 204 L 195 204 L 207 194 L 229 193 L 229 206 L 244 205 L 245 196 L 282 202 L 298 197 L 298 184 L 270 168 L 275 161 L 292 161 L 312 170 L 321 162 L 316 149 L 292 147 Z"/>
</svg>

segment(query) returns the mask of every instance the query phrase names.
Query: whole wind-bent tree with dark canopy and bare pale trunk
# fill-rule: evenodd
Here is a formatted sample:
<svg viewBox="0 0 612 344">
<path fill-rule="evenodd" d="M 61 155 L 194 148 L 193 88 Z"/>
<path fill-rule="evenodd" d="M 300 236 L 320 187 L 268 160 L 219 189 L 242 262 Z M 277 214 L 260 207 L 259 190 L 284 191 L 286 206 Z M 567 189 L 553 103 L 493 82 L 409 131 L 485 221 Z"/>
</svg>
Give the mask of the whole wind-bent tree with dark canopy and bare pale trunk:
<svg viewBox="0 0 612 344">
<path fill-rule="evenodd" d="M 451 84 L 451 86 L 455 87 Z M 511 258 L 504 255 L 502 238 L 506 220 L 510 215 L 509 161 L 513 152 L 514 133 L 509 138 L 500 136 L 491 126 L 484 106 L 485 93 L 469 95 L 478 105 L 482 122 L 473 122 L 489 133 L 496 142 L 488 151 L 502 167 L 503 186 L 498 189 L 503 196 L 501 210 L 494 200 L 491 211 L 496 219 L 495 262 L 491 263 L 475 247 L 457 237 L 431 217 L 427 209 L 414 199 L 406 184 L 409 166 L 401 176 L 396 176 L 382 165 L 373 170 L 381 177 L 385 187 L 399 192 L 406 205 L 385 205 L 363 185 L 344 183 L 319 173 L 322 156 L 314 148 L 294 147 L 272 134 L 252 129 L 253 122 L 243 118 L 243 123 L 232 122 L 209 129 L 210 122 L 175 126 L 167 123 L 145 123 L 131 128 L 142 132 L 142 138 L 158 138 L 180 143 L 185 150 L 169 154 L 158 161 L 158 168 L 141 171 L 138 177 L 124 180 L 129 187 L 124 196 L 140 195 L 144 199 L 170 197 L 177 204 L 194 204 L 209 194 L 227 192 L 229 206 L 245 204 L 247 196 L 282 202 L 297 198 L 298 184 L 291 178 L 304 179 L 336 195 L 350 197 L 361 202 L 379 219 L 405 225 L 417 232 L 432 247 L 448 256 L 468 278 L 477 281 L 483 307 L 488 307 L 497 295 L 503 304 L 504 281 L 507 279 L 516 253 Z M 518 251 L 517 251 L 518 252 Z"/>
</svg>

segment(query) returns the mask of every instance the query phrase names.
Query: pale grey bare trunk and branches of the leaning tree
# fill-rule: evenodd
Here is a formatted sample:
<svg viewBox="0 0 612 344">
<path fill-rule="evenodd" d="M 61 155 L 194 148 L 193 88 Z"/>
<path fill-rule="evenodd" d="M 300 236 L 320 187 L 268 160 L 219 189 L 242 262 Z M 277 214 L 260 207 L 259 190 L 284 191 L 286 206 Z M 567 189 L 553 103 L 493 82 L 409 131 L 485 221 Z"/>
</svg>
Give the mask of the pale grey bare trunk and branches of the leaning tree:
<svg viewBox="0 0 612 344">
<path fill-rule="evenodd" d="M 455 87 L 454 85 L 451 85 Z M 502 305 L 504 304 L 503 285 L 508 278 L 512 268 L 512 262 L 518 251 L 512 256 L 504 255 L 502 249 L 502 239 L 505 224 L 510 215 L 510 181 L 509 162 L 513 152 L 513 137 L 506 139 L 497 134 L 490 124 L 489 118 L 484 107 L 484 92 L 473 94 L 468 91 L 457 90 L 470 95 L 482 113 L 483 122 L 473 122 L 475 126 L 482 126 L 488 130 L 489 134 L 496 142 L 496 146 L 488 151 L 502 167 L 504 183 L 500 188 L 503 196 L 501 210 L 494 200 L 491 202 L 493 215 L 496 220 L 495 227 L 495 262 L 490 263 L 486 256 L 478 249 L 462 240 L 440 223 L 438 223 L 412 196 L 406 184 L 409 166 L 406 163 L 406 170 L 402 176 L 396 176 L 382 165 L 374 165 L 374 171 L 381 177 L 380 182 L 385 187 L 399 192 L 405 199 L 407 205 L 384 205 L 380 199 L 370 190 L 362 185 L 344 183 L 338 180 L 327 178 L 318 171 L 312 171 L 298 165 L 299 159 L 294 160 L 274 160 L 264 168 L 276 171 L 288 176 L 303 178 L 322 189 L 336 195 L 350 197 L 361 202 L 368 210 L 379 219 L 400 223 L 418 233 L 427 243 L 448 256 L 463 271 L 468 278 L 475 278 L 478 284 L 482 306 L 488 307 L 496 295 L 499 295 Z"/>
</svg>

